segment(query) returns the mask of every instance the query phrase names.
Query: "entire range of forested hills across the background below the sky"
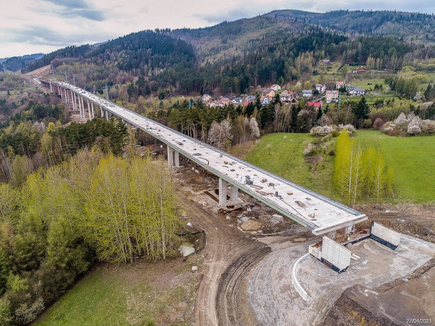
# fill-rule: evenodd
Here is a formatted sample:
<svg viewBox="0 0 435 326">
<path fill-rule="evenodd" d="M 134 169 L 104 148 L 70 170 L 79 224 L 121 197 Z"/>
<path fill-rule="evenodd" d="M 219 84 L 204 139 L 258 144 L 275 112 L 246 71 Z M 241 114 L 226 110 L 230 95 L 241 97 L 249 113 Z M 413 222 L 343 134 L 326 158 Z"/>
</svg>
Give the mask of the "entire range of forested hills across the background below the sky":
<svg viewBox="0 0 435 326">
<path fill-rule="evenodd" d="M 280 10 L 207 28 L 142 31 L 99 46 L 71 46 L 22 71 L 52 64 L 88 89 L 128 84 L 123 96 L 133 100 L 151 92 L 239 94 L 317 74 L 325 58 L 356 65 L 370 59 L 377 69 L 393 70 L 411 59 L 434 58 L 433 19 L 402 12 Z M 403 27 L 395 30 L 398 24 Z"/>
</svg>

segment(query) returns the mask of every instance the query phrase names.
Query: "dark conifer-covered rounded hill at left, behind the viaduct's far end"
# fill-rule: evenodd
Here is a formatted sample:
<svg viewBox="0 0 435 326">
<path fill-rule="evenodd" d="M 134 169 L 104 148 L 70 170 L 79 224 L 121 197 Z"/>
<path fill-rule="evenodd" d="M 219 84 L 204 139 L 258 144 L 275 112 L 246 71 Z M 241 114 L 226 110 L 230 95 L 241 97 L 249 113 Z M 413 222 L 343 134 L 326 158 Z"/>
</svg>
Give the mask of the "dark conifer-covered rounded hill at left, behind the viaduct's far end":
<svg viewBox="0 0 435 326">
<path fill-rule="evenodd" d="M 192 46 L 180 39 L 162 33 L 142 31 L 111 40 L 99 46 L 69 46 L 52 52 L 22 68 L 29 72 L 53 63 L 77 62 L 98 66 L 115 65 L 120 70 L 135 74 L 149 74 L 172 65 L 191 66 L 195 61 Z"/>
</svg>

